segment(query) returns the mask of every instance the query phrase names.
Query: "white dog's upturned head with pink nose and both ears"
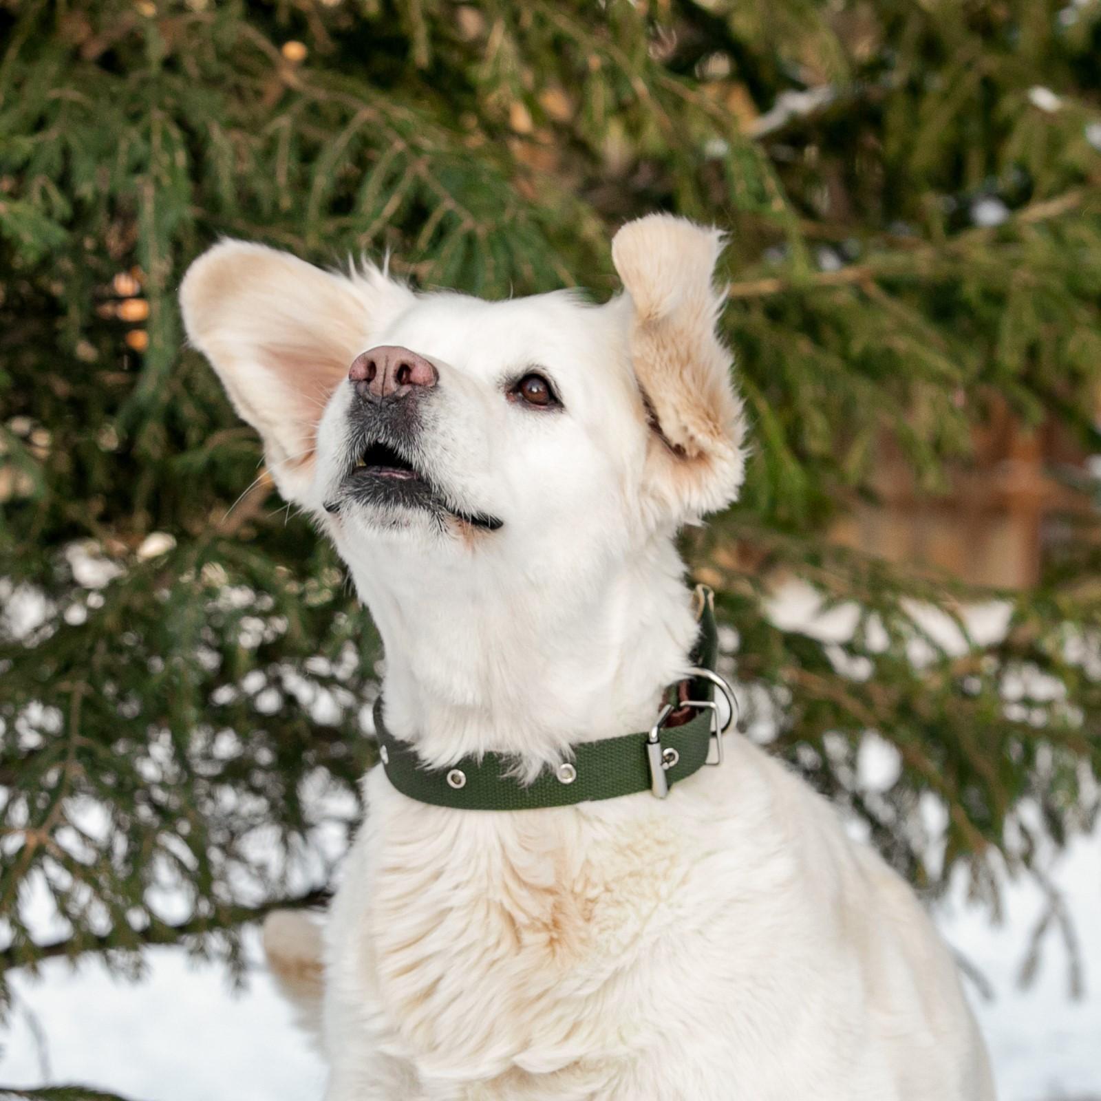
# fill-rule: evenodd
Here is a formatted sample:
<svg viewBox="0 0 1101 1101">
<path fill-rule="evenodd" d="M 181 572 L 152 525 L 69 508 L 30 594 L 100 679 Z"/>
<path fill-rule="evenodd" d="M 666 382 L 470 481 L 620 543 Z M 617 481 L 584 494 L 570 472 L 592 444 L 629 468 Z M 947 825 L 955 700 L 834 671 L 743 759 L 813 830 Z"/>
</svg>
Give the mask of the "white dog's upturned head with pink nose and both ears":
<svg viewBox="0 0 1101 1101">
<path fill-rule="evenodd" d="M 411 565 L 514 555 L 568 573 L 738 491 L 719 250 L 682 219 L 631 222 L 612 244 L 625 293 L 592 306 L 414 293 L 226 241 L 181 296 L 284 497 L 346 557 L 400 544 Z"/>
</svg>

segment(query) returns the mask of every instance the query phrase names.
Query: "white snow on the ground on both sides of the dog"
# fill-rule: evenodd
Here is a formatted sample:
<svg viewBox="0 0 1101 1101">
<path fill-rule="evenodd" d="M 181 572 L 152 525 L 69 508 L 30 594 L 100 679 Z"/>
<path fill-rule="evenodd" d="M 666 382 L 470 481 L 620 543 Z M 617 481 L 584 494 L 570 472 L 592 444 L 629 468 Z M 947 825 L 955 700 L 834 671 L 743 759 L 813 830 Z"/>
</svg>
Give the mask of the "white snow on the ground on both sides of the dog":
<svg viewBox="0 0 1101 1101">
<path fill-rule="evenodd" d="M 994 992 L 986 1002 L 969 988 L 1002 1101 L 1101 1101 L 1099 872 L 1101 829 L 1075 841 L 1050 869 L 1081 944 L 1086 995 L 1078 1001 L 1068 998 L 1066 953 L 1055 938 L 1035 984 L 1017 988 L 1027 936 L 1043 908 L 1034 886 L 1006 887 L 1000 927 L 967 904 L 962 883 L 939 908 L 945 936 Z M 152 950 L 149 973 L 135 984 L 92 961 L 77 969 L 51 961 L 36 981 L 15 975 L 21 1009 L 0 1033 L 0 1084 L 80 1082 L 135 1101 L 319 1098 L 320 1060 L 264 973 L 254 931 L 249 956 L 254 966 L 238 992 L 220 968 L 190 962 L 178 949 Z"/>
</svg>

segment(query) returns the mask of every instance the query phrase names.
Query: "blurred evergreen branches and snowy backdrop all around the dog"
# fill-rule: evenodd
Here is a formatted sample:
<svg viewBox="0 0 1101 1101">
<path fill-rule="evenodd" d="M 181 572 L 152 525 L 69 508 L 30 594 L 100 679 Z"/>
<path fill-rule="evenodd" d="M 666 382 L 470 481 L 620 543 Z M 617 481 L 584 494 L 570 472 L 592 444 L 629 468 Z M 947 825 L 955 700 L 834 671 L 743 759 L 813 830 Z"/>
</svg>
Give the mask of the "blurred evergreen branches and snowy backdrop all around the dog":
<svg viewBox="0 0 1101 1101">
<path fill-rule="evenodd" d="M 729 233 L 742 734 L 928 901 L 1003 1101 L 1101 1098 L 1099 0 L 0 0 L 0 1094 L 319 1095 L 255 923 L 380 654 L 187 263 L 602 299 L 657 209 Z"/>
</svg>

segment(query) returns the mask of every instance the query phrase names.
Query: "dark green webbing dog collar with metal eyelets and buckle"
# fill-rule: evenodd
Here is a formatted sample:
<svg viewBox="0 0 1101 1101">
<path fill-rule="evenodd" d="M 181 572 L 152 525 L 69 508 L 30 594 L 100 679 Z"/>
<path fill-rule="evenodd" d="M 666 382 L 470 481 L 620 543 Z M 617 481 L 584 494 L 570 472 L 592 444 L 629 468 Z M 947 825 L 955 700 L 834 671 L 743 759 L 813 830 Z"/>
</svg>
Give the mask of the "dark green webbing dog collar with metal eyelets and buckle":
<svg viewBox="0 0 1101 1101">
<path fill-rule="evenodd" d="M 715 699 L 718 686 L 727 695 L 731 716 L 733 694 L 715 672 L 719 641 L 715 597 L 706 586 L 696 590 L 699 637 L 691 659 L 693 675 L 671 689 L 673 702 L 662 708 L 654 727 L 636 734 L 579 742 L 569 761 L 544 768 L 530 784 L 513 775 L 515 759 L 504 753 L 467 756 L 443 768 L 428 768 L 408 742 L 399 741 L 383 721 L 382 697 L 374 705 L 379 756 L 390 783 L 421 803 L 462 810 L 530 810 L 564 807 L 590 799 L 614 799 L 636 792 L 658 798 L 705 764 L 722 761 L 722 734 Z"/>
</svg>

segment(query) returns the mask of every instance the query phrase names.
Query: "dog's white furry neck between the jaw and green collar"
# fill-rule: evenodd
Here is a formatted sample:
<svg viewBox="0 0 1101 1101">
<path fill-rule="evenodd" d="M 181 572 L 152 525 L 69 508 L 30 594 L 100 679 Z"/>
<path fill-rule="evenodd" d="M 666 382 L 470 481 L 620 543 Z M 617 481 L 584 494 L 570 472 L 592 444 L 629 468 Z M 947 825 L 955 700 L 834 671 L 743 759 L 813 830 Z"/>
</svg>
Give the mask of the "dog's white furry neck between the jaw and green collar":
<svg viewBox="0 0 1101 1101">
<path fill-rule="evenodd" d="M 493 751 L 533 775 L 570 743 L 646 729 L 690 664 L 696 620 L 667 539 L 558 584 L 352 574 L 385 648 L 386 724 L 429 765 Z"/>
</svg>

